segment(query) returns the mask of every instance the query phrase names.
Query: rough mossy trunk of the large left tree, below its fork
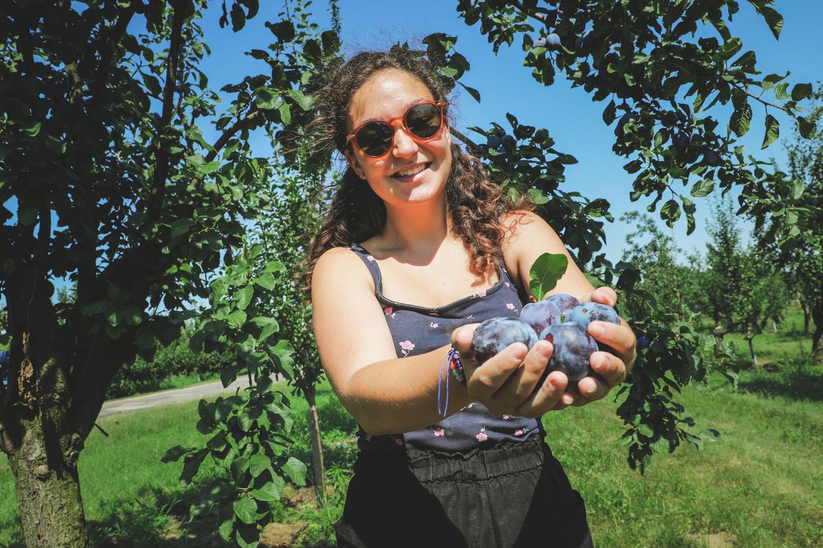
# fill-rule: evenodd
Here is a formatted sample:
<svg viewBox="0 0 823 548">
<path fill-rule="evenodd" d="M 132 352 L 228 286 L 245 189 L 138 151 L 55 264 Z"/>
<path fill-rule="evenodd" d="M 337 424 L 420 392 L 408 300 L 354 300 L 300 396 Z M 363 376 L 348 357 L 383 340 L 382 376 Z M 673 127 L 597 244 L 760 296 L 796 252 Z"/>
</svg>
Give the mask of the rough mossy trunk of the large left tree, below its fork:
<svg viewBox="0 0 823 548">
<path fill-rule="evenodd" d="M 77 462 L 61 458 L 58 436 L 30 421 L 19 449 L 9 455 L 27 548 L 89 545 Z M 58 455 L 54 462 L 47 455 Z"/>
</svg>

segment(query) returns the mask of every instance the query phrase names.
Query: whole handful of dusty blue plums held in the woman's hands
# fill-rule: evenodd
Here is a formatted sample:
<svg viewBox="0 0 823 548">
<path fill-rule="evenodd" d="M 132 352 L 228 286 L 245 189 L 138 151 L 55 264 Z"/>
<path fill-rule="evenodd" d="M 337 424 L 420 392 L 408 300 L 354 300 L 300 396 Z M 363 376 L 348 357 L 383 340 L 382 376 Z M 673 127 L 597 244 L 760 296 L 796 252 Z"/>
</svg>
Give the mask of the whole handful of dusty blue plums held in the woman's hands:
<svg viewBox="0 0 823 548">
<path fill-rule="evenodd" d="M 588 334 L 589 322 L 610 321 L 620 325 L 620 318 L 611 306 L 598 302 L 580 302 L 576 297 L 557 293 L 542 301 L 523 306 L 518 318 L 492 318 L 477 326 L 472 338 L 472 352 L 481 364 L 511 343 L 523 343 L 532 348 L 540 339 L 554 346 L 540 383 L 551 371 L 562 371 L 569 377 L 569 386 L 576 387 L 584 377 L 600 378 L 590 365 L 592 352 L 600 348 Z"/>
</svg>

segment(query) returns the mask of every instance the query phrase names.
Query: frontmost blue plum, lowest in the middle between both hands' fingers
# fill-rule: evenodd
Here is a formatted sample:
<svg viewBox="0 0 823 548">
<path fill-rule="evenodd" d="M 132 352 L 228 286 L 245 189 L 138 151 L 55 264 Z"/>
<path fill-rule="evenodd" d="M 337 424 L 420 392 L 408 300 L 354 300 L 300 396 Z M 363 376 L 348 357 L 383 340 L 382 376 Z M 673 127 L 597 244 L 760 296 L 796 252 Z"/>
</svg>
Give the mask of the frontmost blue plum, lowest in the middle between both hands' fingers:
<svg viewBox="0 0 823 548">
<path fill-rule="evenodd" d="M 561 371 L 569 377 L 569 388 L 577 388 L 584 377 L 597 377 L 591 366 L 592 352 L 597 352 L 597 341 L 579 324 L 554 324 L 543 329 L 540 338 L 554 346 L 543 378 L 551 371 Z M 542 380 L 541 380 L 542 382 Z"/>
</svg>

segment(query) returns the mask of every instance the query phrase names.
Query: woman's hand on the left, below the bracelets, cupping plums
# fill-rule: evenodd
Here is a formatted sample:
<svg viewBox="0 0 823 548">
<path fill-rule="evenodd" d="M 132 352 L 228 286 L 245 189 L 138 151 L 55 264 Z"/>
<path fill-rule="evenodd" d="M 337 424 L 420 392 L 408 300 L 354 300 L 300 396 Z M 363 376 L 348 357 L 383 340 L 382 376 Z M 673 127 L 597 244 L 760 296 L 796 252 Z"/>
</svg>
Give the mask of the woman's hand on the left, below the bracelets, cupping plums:
<svg viewBox="0 0 823 548">
<path fill-rule="evenodd" d="M 472 398 L 495 415 L 517 417 L 540 417 L 574 403 L 574 395 L 565 392 L 569 379 L 560 371 L 549 373 L 538 386 L 551 357 L 551 343 L 537 341 L 531 350 L 523 343 L 513 343 L 478 366 L 472 354 L 478 325 L 463 325 L 452 333 L 452 347 L 460 352 Z"/>
</svg>

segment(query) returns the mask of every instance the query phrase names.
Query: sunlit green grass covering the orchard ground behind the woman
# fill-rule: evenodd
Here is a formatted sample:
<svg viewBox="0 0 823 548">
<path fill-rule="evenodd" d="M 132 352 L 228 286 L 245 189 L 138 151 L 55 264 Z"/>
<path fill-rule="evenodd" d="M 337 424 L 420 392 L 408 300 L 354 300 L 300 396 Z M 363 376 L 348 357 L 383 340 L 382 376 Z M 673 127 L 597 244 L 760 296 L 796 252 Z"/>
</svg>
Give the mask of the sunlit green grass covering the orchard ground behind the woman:
<svg viewBox="0 0 823 548">
<path fill-rule="evenodd" d="M 811 339 L 797 333 L 802 317 L 796 311 L 779 327 L 755 339 L 758 359 L 778 371 L 744 369 L 738 389 L 718 375 L 704 389 L 682 394 L 696 430 L 717 428 L 720 440 L 703 451 L 682 447 L 656 457 L 642 477 L 614 443 L 622 428 L 611 399 L 544 417 L 552 449 L 586 500 L 596 546 L 823 546 L 823 367 L 803 359 Z M 742 338 L 728 337 L 745 364 Z M 291 546 L 333 546 L 331 523 L 341 511 L 356 452 L 354 424 L 328 386 L 319 407 L 336 488 L 325 506 L 305 492 L 285 501 L 280 521 L 297 523 L 288 529 L 297 535 Z M 194 430 L 196 408 L 196 402 L 184 403 L 100 421 L 110 436 L 93 431 L 80 461 L 95 546 L 214 546 L 212 523 L 184 523 L 188 500 L 208 478 L 183 489 L 177 483 L 181 464 L 160 463 L 170 446 L 202 441 Z M 305 404 L 295 402 L 295 421 L 305 431 Z M 307 460 L 308 435 L 297 437 L 297 454 Z M 0 546 L 22 546 L 5 457 Z"/>
</svg>

